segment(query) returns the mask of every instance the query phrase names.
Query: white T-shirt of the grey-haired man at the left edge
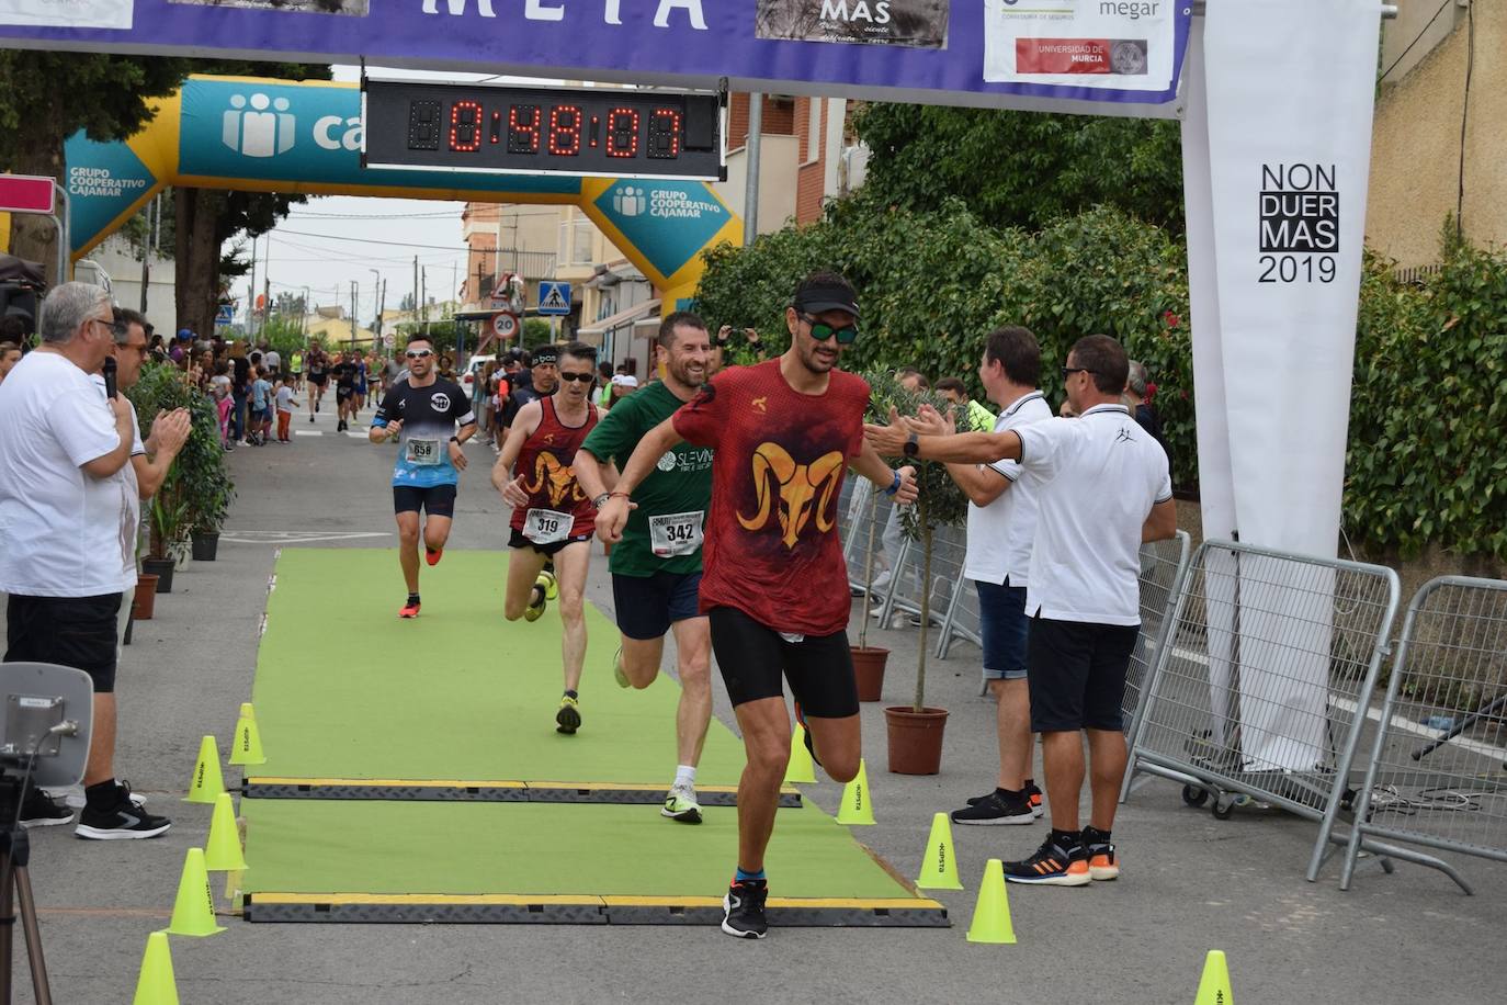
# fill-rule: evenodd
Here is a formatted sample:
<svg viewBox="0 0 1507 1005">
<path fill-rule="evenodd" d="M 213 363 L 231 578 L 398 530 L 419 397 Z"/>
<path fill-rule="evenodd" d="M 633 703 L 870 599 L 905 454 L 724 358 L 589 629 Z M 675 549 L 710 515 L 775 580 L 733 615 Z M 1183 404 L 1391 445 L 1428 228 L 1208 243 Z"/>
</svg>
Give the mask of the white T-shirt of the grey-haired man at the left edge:
<svg viewBox="0 0 1507 1005">
<path fill-rule="evenodd" d="M 121 446 L 110 404 L 57 353 L 29 353 L 0 384 L 0 591 L 121 592 L 122 479 L 80 467 Z"/>
</svg>

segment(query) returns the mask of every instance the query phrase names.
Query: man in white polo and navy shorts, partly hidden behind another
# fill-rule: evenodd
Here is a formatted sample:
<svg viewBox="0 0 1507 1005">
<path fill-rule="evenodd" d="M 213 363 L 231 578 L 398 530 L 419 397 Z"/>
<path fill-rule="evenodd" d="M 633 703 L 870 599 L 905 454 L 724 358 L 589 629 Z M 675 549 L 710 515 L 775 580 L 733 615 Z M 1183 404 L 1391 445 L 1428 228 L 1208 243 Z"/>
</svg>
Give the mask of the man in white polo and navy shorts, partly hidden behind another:
<svg viewBox="0 0 1507 1005">
<path fill-rule="evenodd" d="M 1001 408 L 999 417 L 990 417 L 986 428 L 1002 432 L 1052 417 L 1052 407 L 1037 389 L 1041 347 L 1028 328 L 1007 327 L 989 336 L 978 380 L 989 399 Z M 952 432 L 952 425 L 949 416 L 948 432 Z M 978 591 L 984 678 L 995 695 L 999 737 L 999 780 L 995 790 L 952 811 L 952 821 L 1029 824 L 1041 815 L 1041 790 L 1031 777 L 1031 693 L 1026 686 L 1026 637 L 1031 627 L 1026 583 L 1031 541 L 1035 538 L 1037 490 L 1034 478 L 1016 461 L 948 464 L 946 472 L 969 499 L 963 574 L 974 580 Z"/>
</svg>

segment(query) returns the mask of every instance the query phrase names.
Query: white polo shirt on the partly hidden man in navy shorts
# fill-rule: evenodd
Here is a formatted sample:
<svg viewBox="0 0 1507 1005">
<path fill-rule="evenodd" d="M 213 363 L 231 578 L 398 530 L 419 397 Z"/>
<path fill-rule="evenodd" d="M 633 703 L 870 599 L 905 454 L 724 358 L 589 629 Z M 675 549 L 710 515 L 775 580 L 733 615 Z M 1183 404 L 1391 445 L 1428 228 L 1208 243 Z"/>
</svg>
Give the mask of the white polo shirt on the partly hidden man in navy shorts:
<svg viewBox="0 0 1507 1005">
<path fill-rule="evenodd" d="M 1019 429 L 1052 417 L 1040 390 L 1022 395 L 995 419 L 995 432 Z M 1035 478 L 1010 460 L 984 464 L 1010 481 L 1010 488 L 987 506 L 967 505 L 967 556 L 963 576 L 981 583 L 1025 586 L 1031 577 L 1031 541 L 1035 538 Z"/>
</svg>

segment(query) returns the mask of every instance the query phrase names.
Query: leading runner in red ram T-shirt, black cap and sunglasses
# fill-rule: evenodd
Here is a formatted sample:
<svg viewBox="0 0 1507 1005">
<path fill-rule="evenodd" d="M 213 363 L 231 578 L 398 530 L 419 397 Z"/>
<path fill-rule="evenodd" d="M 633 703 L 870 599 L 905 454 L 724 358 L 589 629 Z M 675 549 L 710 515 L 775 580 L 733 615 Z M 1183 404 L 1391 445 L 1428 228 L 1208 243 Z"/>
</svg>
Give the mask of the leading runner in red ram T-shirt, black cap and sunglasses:
<svg viewBox="0 0 1507 1005">
<path fill-rule="evenodd" d="M 781 672 L 827 774 L 838 782 L 857 774 L 857 689 L 845 631 L 851 597 L 836 535 L 844 473 L 851 467 L 900 502 L 916 496 L 913 472 L 892 472 L 864 443 L 868 384 L 835 369 L 842 347 L 857 338 L 857 318 L 845 279 L 808 277 L 785 310 L 790 350 L 722 371 L 645 435 L 597 520 L 603 539 L 619 539 L 633 490 L 666 451 L 681 441 L 716 449 L 701 610 L 747 752 L 738 866 L 722 921 L 725 933 L 743 939 L 766 933 L 764 850 L 790 758 Z"/>
</svg>

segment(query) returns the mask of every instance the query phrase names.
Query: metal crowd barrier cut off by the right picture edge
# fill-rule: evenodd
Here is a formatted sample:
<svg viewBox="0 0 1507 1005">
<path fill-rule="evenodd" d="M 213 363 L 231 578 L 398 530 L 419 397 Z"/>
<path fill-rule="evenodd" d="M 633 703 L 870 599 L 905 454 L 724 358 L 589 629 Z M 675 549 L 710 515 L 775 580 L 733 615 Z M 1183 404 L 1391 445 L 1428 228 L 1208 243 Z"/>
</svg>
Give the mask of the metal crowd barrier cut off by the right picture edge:
<svg viewBox="0 0 1507 1005">
<path fill-rule="evenodd" d="M 1340 889 L 1374 838 L 1507 862 L 1507 583 L 1444 576 L 1408 604 L 1355 820 Z"/>
</svg>

